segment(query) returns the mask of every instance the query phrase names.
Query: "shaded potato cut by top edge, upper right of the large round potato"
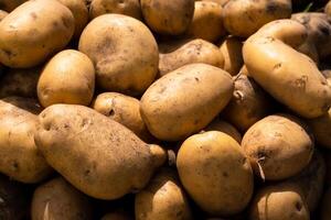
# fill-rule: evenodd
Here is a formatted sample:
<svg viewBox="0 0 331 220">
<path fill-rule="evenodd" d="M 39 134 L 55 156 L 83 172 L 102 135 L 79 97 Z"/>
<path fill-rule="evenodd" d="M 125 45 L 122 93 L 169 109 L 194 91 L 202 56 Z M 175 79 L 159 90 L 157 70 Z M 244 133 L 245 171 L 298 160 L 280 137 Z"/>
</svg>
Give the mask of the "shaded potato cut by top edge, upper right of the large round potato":
<svg viewBox="0 0 331 220">
<path fill-rule="evenodd" d="M 180 35 L 190 26 L 194 0 L 140 0 L 143 19 L 158 34 Z"/>
</svg>

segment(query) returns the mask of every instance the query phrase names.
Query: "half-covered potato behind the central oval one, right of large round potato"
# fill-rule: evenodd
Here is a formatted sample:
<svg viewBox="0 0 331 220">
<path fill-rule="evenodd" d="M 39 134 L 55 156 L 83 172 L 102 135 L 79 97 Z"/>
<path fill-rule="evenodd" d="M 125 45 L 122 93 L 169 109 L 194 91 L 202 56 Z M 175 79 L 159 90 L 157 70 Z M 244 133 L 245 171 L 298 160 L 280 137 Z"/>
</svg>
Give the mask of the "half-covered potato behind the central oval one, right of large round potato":
<svg viewBox="0 0 331 220">
<path fill-rule="evenodd" d="M 159 72 L 161 76 L 186 64 L 204 63 L 223 68 L 222 53 L 212 43 L 196 38 L 191 41 L 170 42 L 160 45 Z"/>
</svg>

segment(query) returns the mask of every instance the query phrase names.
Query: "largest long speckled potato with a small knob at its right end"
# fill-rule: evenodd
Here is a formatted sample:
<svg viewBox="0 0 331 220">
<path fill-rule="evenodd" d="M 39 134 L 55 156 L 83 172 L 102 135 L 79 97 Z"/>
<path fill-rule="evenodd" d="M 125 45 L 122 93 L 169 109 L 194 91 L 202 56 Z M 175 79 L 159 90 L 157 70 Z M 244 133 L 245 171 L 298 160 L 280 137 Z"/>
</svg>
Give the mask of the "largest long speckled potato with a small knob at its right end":
<svg viewBox="0 0 331 220">
<path fill-rule="evenodd" d="M 117 199 L 143 188 L 164 151 L 84 106 L 53 105 L 40 116 L 35 143 L 47 163 L 84 194 Z M 63 154 L 65 152 L 65 154 Z"/>
</svg>

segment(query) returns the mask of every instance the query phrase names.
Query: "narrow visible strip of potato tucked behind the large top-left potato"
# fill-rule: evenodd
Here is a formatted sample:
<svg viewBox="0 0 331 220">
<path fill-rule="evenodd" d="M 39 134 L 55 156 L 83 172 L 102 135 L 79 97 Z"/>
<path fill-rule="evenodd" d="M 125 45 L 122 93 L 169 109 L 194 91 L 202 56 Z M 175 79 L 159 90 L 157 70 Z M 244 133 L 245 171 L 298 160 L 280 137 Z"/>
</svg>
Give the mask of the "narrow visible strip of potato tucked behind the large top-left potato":
<svg viewBox="0 0 331 220">
<path fill-rule="evenodd" d="M 66 6 L 74 15 L 75 19 L 75 32 L 74 38 L 79 38 L 81 33 L 88 22 L 88 10 L 86 0 L 57 0 L 62 4 Z"/>
</svg>

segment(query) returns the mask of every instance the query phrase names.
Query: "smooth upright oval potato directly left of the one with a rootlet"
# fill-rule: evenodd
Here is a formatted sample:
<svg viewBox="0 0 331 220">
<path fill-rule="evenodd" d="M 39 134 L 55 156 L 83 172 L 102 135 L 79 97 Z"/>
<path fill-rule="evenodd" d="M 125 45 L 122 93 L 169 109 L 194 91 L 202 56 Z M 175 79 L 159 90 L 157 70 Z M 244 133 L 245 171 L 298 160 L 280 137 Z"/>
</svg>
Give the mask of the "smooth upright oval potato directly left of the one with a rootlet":
<svg viewBox="0 0 331 220">
<path fill-rule="evenodd" d="M 210 131 L 186 139 L 177 168 L 190 197 L 216 216 L 239 213 L 253 195 L 253 172 L 239 144 L 229 135 Z"/>
</svg>

